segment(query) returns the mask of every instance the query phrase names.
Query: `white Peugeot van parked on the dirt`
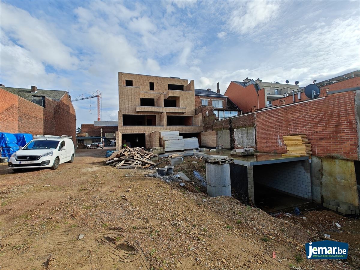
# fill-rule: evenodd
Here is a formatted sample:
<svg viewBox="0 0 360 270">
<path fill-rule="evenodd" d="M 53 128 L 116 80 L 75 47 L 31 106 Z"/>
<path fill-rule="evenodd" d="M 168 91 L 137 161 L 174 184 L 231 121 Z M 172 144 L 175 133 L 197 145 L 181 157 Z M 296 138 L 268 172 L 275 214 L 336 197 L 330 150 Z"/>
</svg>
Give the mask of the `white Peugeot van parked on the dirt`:
<svg viewBox="0 0 360 270">
<path fill-rule="evenodd" d="M 56 170 L 61 163 L 74 162 L 74 157 L 72 136 L 35 135 L 32 141 L 11 155 L 8 166 L 13 171 L 46 167 Z"/>
</svg>

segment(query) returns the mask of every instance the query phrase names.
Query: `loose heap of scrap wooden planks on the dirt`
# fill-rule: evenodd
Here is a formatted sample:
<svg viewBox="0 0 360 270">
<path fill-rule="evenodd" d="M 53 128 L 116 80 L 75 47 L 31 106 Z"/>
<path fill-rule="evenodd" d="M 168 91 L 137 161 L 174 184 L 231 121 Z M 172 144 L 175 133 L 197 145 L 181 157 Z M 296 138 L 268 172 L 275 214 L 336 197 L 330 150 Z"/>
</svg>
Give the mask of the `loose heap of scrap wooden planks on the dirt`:
<svg viewBox="0 0 360 270">
<path fill-rule="evenodd" d="M 152 165 L 156 165 L 156 163 L 151 161 L 151 158 L 157 156 L 157 154 L 145 151 L 142 147 L 126 147 L 114 152 L 110 157 L 104 160 L 104 163 L 118 169 L 148 168 Z"/>
</svg>

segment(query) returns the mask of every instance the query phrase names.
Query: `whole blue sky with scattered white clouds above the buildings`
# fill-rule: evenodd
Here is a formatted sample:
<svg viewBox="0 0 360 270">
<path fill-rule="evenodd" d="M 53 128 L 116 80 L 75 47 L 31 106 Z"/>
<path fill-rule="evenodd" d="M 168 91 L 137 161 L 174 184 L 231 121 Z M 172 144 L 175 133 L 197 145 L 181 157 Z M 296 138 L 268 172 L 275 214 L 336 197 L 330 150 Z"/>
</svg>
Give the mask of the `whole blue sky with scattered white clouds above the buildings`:
<svg viewBox="0 0 360 270">
<path fill-rule="evenodd" d="M 305 86 L 359 69 L 359 1 L 1 1 L 0 83 L 102 92 L 117 121 L 117 72 Z M 92 114 L 89 114 L 91 101 Z M 96 99 L 74 102 L 77 126 Z"/>
</svg>

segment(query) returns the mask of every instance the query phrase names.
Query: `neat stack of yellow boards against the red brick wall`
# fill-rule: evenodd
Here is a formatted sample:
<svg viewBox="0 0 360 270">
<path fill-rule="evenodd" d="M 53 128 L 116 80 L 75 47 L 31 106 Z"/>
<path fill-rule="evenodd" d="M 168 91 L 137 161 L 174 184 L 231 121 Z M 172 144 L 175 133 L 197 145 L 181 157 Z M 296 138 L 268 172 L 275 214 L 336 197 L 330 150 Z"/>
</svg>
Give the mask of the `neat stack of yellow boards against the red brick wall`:
<svg viewBox="0 0 360 270">
<path fill-rule="evenodd" d="M 283 156 L 310 156 L 311 143 L 305 134 L 283 136 L 284 144 L 286 145 L 286 154 Z"/>
</svg>

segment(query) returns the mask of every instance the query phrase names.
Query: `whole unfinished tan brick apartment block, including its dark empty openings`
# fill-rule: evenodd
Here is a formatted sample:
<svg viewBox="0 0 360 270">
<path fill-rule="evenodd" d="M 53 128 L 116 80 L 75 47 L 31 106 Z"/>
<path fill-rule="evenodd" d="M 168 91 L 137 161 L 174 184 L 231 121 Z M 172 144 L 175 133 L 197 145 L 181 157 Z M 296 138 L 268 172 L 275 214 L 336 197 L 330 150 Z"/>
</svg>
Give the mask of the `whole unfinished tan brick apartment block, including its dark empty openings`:
<svg viewBox="0 0 360 270">
<path fill-rule="evenodd" d="M 202 131 L 195 115 L 194 80 L 119 72 L 117 145 L 159 146 L 159 131 L 179 131 L 183 138 Z"/>
</svg>

